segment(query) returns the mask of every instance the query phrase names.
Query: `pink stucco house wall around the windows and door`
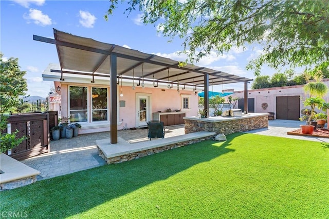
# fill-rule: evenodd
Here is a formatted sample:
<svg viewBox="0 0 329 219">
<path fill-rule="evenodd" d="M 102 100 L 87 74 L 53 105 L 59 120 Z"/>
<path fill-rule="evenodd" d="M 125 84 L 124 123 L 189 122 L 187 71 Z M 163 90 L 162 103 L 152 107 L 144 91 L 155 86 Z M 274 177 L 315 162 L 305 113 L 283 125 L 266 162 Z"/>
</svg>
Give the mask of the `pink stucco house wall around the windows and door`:
<svg viewBox="0 0 329 219">
<path fill-rule="evenodd" d="M 98 85 L 98 84 L 77 84 L 77 83 L 61 83 L 61 95 L 62 95 L 62 116 L 67 117 L 69 114 L 68 110 L 68 86 L 87 86 L 87 87 L 107 87 L 108 97 L 109 97 L 109 86 Z M 118 86 L 117 90 L 117 100 L 118 100 L 118 130 L 123 128 L 134 128 L 136 127 L 136 97 L 137 94 L 145 94 L 150 96 L 150 108 L 151 108 L 151 120 L 152 113 L 162 111 L 165 112 L 168 108 L 172 110 L 181 109 L 181 95 L 188 95 L 190 99 L 190 109 L 182 110 L 186 112 L 186 116 L 197 115 L 198 109 L 198 96 L 195 95 L 194 91 L 190 90 L 180 90 L 178 93 L 176 89 L 163 89 L 163 88 L 153 88 L 145 87 L 141 88 L 135 85 L 135 90 L 131 86 L 122 86 L 122 94 L 120 96 L 121 86 Z M 119 101 L 125 101 L 125 107 L 119 107 Z M 108 105 L 110 100 L 108 98 Z M 109 108 L 109 106 L 108 106 Z M 109 112 L 108 112 L 109 113 Z M 109 114 L 108 114 L 109 115 Z M 110 116 L 108 116 L 109 118 Z M 89 113 L 89 121 L 91 121 L 91 115 Z M 109 131 L 109 123 L 80 123 L 82 129 L 79 131 L 80 134 Z M 99 125 L 98 125 L 99 124 Z"/>
</svg>

